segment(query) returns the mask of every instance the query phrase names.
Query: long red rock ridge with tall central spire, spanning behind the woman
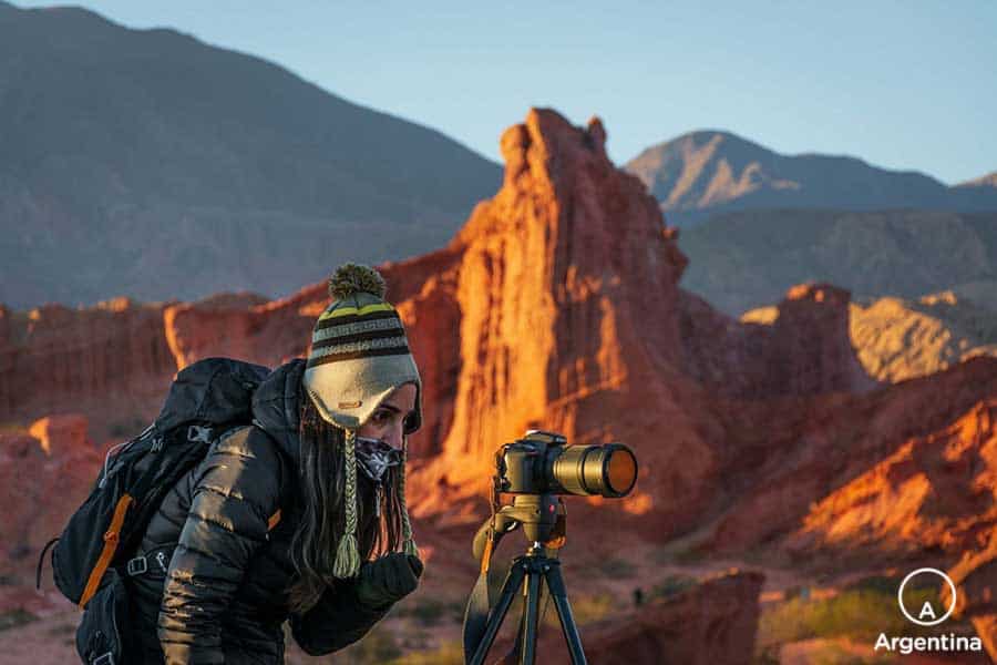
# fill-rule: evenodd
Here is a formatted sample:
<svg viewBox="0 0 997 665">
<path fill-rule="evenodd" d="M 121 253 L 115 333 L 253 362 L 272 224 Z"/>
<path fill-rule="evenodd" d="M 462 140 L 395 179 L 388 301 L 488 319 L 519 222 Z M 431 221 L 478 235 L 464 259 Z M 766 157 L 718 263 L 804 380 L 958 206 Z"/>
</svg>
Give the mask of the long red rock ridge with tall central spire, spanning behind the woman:
<svg viewBox="0 0 997 665">
<path fill-rule="evenodd" d="M 847 293 L 829 285 L 792 289 L 770 326 L 682 293 L 677 233 L 604 141 L 597 120 L 531 111 L 502 137 L 502 190 L 450 245 L 381 266 L 425 385 L 417 516 L 480 516 L 494 449 L 539 427 L 637 451 L 637 491 L 578 511 L 605 540 L 709 525 L 705 542 L 740 551 L 799 531 L 811 502 L 994 393 L 994 361 L 980 359 L 863 395 Z M 271 303 L 0 313 L 3 419 L 79 402 L 93 427 L 109 396 L 115 412 L 151 417 L 195 359 L 304 355 L 327 303 L 317 284 Z"/>
</svg>

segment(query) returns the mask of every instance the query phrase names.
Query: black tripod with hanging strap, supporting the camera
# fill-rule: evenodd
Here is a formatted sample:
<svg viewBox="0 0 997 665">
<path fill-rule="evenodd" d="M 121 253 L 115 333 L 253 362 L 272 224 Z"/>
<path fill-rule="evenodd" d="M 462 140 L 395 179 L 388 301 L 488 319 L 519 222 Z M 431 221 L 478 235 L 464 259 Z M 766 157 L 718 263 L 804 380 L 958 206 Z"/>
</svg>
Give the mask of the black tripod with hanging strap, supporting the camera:
<svg viewBox="0 0 997 665">
<path fill-rule="evenodd" d="M 524 526 L 526 538 L 533 544 L 526 553 L 513 560 L 512 569 L 505 577 L 502 591 L 495 606 L 486 613 L 486 621 L 482 605 L 489 607 L 487 598 L 487 567 L 491 553 L 497 545 L 504 533 L 518 525 Z M 567 643 L 573 665 L 586 665 L 585 653 L 582 649 L 582 637 L 578 627 L 572 616 L 572 608 L 567 600 L 567 591 L 564 579 L 561 575 L 561 561 L 546 555 L 544 543 L 551 541 L 552 535 L 557 542 L 564 538 L 565 532 L 564 504 L 561 499 L 552 494 L 518 495 L 512 505 L 502 507 L 493 520 L 485 522 L 477 536 L 474 539 L 475 555 L 482 560 L 482 575 L 475 585 L 467 603 L 467 613 L 464 617 L 464 657 L 471 665 L 484 665 L 485 656 L 502 627 L 502 622 L 512 605 L 515 594 L 525 586 L 525 602 L 523 615 L 520 622 L 520 633 L 516 644 L 520 646 L 520 665 L 534 665 L 536 659 L 536 635 L 538 623 L 539 596 L 543 580 L 557 617 L 561 620 L 561 630 Z M 485 540 L 486 539 L 486 540 Z M 563 540 L 559 540 L 563 542 Z M 557 545 L 559 546 L 559 545 Z M 473 655 L 472 655 L 473 654 Z"/>
</svg>

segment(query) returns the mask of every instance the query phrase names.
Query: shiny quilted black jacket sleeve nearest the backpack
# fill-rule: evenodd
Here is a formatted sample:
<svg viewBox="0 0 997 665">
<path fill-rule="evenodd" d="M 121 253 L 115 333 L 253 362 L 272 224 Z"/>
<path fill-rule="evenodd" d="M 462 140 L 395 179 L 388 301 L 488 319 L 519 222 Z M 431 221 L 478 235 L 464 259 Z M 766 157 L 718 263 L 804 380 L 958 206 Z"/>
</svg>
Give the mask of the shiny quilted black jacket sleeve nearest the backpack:
<svg viewBox="0 0 997 665">
<path fill-rule="evenodd" d="M 169 562 L 157 633 L 167 665 L 224 663 L 220 620 L 279 503 L 280 460 L 245 428 L 215 443 L 195 473 Z"/>
</svg>

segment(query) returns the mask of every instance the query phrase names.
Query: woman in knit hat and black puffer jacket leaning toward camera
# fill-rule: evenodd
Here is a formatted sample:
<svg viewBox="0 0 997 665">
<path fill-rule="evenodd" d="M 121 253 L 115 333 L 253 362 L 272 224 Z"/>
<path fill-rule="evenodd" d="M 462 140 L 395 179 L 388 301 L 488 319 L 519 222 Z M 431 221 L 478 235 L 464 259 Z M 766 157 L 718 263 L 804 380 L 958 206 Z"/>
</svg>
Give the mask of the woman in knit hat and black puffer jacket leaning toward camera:
<svg viewBox="0 0 997 665">
<path fill-rule="evenodd" d="M 286 620 L 327 654 L 419 583 L 404 499 L 419 371 L 377 272 L 346 264 L 329 290 L 308 360 L 267 377 L 253 426 L 215 443 L 148 525 L 147 570 L 130 577 L 145 662 L 282 664 Z"/>
</svg>

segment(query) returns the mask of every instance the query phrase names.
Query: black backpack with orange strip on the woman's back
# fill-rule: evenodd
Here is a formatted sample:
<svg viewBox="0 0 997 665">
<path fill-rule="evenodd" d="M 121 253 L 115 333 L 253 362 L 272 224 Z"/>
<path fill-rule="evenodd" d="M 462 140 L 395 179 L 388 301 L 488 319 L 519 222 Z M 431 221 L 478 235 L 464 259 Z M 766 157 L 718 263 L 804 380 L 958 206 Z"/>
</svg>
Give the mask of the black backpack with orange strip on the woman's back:
<svg viewBox="0 0 997 665">
<path fill-rule="evenodd" d="M 205 458 L 212 443 L 251 424 L 253 392 L 269 372 L 229 358 L 206 358 L 181 370 L 160 416 L 137 437 L 107 451 L 90 497 L 45 544 L 35 585 L 41 586 L 45 552 L 56 543 L 52 577 L 59 591 L 84 610 L 76 631 L 76 651 L 84 663 L 138 661 L 129 656 L 134 638 L 125 627 L 130 611 L 124 579 L 147 564 L 130 555 L 166 492 Z M 270 529 L 279 519 L 278 510 Z"/>
</svg>

